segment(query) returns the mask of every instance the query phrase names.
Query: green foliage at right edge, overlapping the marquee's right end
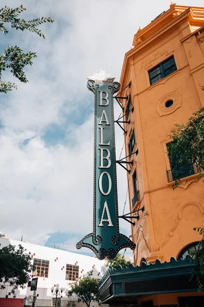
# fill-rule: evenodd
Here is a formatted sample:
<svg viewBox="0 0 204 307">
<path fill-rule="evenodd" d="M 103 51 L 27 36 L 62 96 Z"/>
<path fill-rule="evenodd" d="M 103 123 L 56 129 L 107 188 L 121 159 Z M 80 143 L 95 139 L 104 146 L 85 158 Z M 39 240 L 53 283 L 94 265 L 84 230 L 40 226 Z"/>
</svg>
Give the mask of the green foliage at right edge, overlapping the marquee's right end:
<svg viewBox="0 0 204 307">
<path fill-rule="evenodd" d="M 191 279 L 193 276 L 196 277 L 197 287 L 198 291 L 201 291 L 202 284 L 200 282 L 200 278 L 203 276 L 203 266 L 204 266 L 204 228 L 201 227 L 195 227 L 193 230 L 197 230 L 199 234 L 202 235 L 201 241 L 197 245 L 197 249 L 191 253 L 191 256 L 194 259 L 194 268 L 192 272 Z"/>
</svg>

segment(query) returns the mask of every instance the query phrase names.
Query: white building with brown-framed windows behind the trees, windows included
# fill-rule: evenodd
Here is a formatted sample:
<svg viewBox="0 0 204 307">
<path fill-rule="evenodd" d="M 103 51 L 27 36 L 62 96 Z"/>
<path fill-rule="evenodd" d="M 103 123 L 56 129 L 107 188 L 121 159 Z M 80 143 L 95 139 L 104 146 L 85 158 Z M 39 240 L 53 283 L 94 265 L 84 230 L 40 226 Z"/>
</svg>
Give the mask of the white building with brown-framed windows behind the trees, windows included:
<svg viewBox="0 0 204 307">
<path fill-rule="evenodd" d="M 93 270 L 93 277 L 101 278 L 105 270 L 105 260 L 99 260 L 96 257 L 85 256 L 77 253 L 71 253 L 60 249 L 39 246 L 28 242 L 20 242 L 4 237 L 0 237 L 0 244 L 3 248 L 9 244 L 18 246 L 21 244 L 27 252 L 31 252 L 31 257 L 35 265 L 35 272 L 33 275 L 38 277 L 37 284 L 37 306 L 52 306 L 51 288 L 59 283 L 60 288 L 63 287 L 64 291 L 61 296 L 61 305 L 70 306 L 74 301 L 77 307 L 85 307 L 85 303 L 78 302 L 77 297 L 67 297 L 66 290 L 69 289 L 69 283 L 78 281 L 79 277 L 86 275 L 88 271 Z M 13 294 L 11 293 L 12 287 L 6 285 L 5 290 L 0 290 L 0 307 L 1 306 L 22 306 L 23 298 L 25 296 L 33 295 L 30 288 L 17 289 L 16 299 L 20 304 L 13 304 Z M 60 297 L 60 296 L 58 296 Z M 4 300 L 3 300 L 4 298 Z M 7 298 L 7 300 L 5 300 Z M 20 300 L 21 299 L 21 300 Z M 6 305 L 5 305 L 6 301 Z M 97 303 L 91 303 L 92 306 L 98 306 Z"/>
</svg>

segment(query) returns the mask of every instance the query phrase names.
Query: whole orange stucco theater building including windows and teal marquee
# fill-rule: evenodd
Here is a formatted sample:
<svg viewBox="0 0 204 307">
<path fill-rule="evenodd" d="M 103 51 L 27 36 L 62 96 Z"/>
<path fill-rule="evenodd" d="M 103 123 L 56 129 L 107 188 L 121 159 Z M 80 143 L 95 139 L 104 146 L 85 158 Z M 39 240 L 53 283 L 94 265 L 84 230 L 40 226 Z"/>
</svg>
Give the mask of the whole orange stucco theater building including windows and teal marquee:
<svg viewBox="0 0 204 307">
<path fill-rule="evenodd" d="M 204 8 L 171 4 L 137 31 L 132 45 L 120 78 L 121 89 L 131 82 L 122 95 L 128 99 L 120 103 L 129 121 L 130 212 L 144 210 L 132 214 L 139 213 L 132 220 L 135 268 L 110 270 L 100 293 L 113 305 L 202 306 L 203 292 L 189 281 L 192 265 L 180 259 L 201 239 L 193 228 L 204 227 L 204 185 L 195 182 L 196 166 L 186 165 L 173 190 L 167 147 L 174 124 L 186 124 L 204 106 Z"/>
</svg>

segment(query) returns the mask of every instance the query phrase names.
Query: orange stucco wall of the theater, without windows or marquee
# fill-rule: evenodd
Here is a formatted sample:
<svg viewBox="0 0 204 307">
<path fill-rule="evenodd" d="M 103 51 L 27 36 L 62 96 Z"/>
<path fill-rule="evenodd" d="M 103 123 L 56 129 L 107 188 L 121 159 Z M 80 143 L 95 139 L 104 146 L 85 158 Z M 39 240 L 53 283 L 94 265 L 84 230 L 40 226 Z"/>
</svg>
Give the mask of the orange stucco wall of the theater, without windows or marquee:
<svg viewBox="0 0 204 307">
<path fill-rule="evenodd" d="M 199 30 L 199 32 L 198 32 Z M 151 24 L 136 33 L 133 48 L 125 54 L 121 73 L 121 89 L 130 81 L 134 111 L 130 124 L 124 124 L 126 156 L 132 130 L 135 131 L 138 155 L 133 155 L 129 182 L 130 210 L 145 207 L 144 226 L 134 254 L 135 265 L 141 259 L 155 262 L 157 258 L 169 261 L 200 235 L 193 227 L 204 226 L 202 180 L 196 175 L 182 179 L 180 187 L 172 189 L 166 170 L 170 169 L 166 143 L 175 123 L 185 124 L 192 113 L 204 105 L 204 9 L 172 4 L 170 9 Z M 174 56 L 177 70 L 150 85 L 148 71 Z M 172 107 L 165 108 L 168 99 Z M 126 102 L 122 102 L 124 114 Z M 135 151 L 133 150 L 133 152 Z M 134 196 L 133 173 L 138 179 L 139 202 L 132 207 Z M 130 212 L 131 212 L 130 211 Z M 132 227 L 136 243 L 144 213 Z"/>
</svg>

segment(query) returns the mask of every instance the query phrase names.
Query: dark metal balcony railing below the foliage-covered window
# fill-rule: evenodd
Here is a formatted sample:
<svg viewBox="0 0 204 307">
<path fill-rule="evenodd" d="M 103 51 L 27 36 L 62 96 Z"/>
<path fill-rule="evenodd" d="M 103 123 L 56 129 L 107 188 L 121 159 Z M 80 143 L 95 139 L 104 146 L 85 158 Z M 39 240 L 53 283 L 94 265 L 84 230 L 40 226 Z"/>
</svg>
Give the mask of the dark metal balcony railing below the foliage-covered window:
<svg viewBox="0 0 204 307">
<path fill-rule="evenodd" d="M 194 175 L 197 172 L 198 171 L 195 164 L 186 164 L 177 169 L 174 169 L 173 171 L 169 169 L 166 171 L 166 174 L 168 182 L 172 182 L 175 180 L 176 177 L 185 178 Z"/>
</svg>

